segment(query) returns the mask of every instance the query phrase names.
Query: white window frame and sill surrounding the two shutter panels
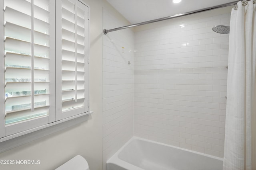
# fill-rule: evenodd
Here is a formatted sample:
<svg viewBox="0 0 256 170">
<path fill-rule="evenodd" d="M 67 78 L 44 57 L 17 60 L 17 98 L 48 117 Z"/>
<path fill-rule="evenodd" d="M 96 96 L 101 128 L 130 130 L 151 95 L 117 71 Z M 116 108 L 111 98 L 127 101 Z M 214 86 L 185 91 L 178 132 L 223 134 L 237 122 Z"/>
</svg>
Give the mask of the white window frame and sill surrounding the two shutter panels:
<svg viewBox="0 0 256 170">
<path fill-rule="evenodd" d="M 80 0 L 78 0 L 80 1 Z M 52 0 L 50 0 L 50 2 L 52 2 Z M 88 48 L 88 61 L 89 61 L 89 49 L 90 49 L 90 37 L 89 37 L 89 29 L 90 29 L 90 7 L 85 4 L 84 2 L 80 1 L 82 4 L 84 4 L 87 8 L 88 8 L 88 29 L 87 29 L 87 33 L 88 33 L 88 38 L 86 39 L 86 41 L 88 41 L 87 43 L 87 46 L 85 46 L 86 48 Z M 57 3 L 61 3 L 61 0 L 55 0 L 53 1 L 54 3 L 54 20 L 55 20 L 55 27 L 54 27 L 54 36 L 50 36 L 50 38 L 54 38 L 55 39 L 55 45 L 54 45 L 54 55 L 56 57 L 57 53 L 56 53 L 56 44 L 57 44 L 57 40 L 56 40 L 56 32 L 58 31 L 57 28 L 56 28 L 56 24 L 57 24 L 57 19 L 56 19 L 56 16 L 57 16 L 57 10 L 56 10 L 56 4 Z M 1 9 L 4 9 L 4 2 L 0 3 L 0 8 Z M 4 10 L 2 10 L 2 13 L 1 13 L 1 17 L 0 17 L 0 23 L 4 23 Z M 57 99 L 56 98 L 50 98 L 50 103 L 54 105 L 54 108 L 53 111 L 52 109 L 50 109 L 52 112 L 49 113 L 48 117 L 49 119 L 53 119 L 55 121 L 53 122 L 49 122 L 47 124 L 44 124 L 44 125 L 40 125 L 40 126 L 36 126 L 34 128 L 31 128 L 31 129 L 28 129 L 28 130 L 24 130 L 24 131 L 21 131 L 21 132 L 18 132 L 18 133 L 14 133 L 12 135 L 6 135 L 6 125 L 5 124 L 5 74 L 4 74 L 4 63 L 5 63 L 5 59 L 4 59 L 4 26 L 1 27 L 0 29 L 0 39 L 3 40 L 3 41 L 0 41 L 0 51 L 1 51 L 1 59 L 0 59 L 0 63 L 2 63 L 3 65 L 0 66 L 0 152 L 4 152 L 6 150 L 9 150 L 9 149 L 12 149 L 14 147 L 17 147 L 17 146 L 20 146 L 20 145 L 23 145 L 25 143 L 28 143 L 30 141 L 33 141 L 35 139 L 38 139 L 40 137 L 43 137 L 43 136 L 46 136 L 46 135 L 49 135 L 51 133 L 54 133 L 56 131 L 60 131 L 62 129 L 65 129 L 67 127 L 71 127 L 73 125 L 76 125 L 78 123 L 82 123 L 84 121 L 87 121 L 88 120 L 88 117 L 90 115 L 90 113 L 93 113 L 93 112 L 90 112 L 90 107 L 89 107 L 89 87 L 88 87 L 88 83 L 89 83 L 89 72 L 86 72 L 86 75 L 87 77 L 85 77 L 85 80 L 87 81 L 87 94 L 86 94 L 86 97 L 87 97 L 87 100 L 88 100 L 88 105 L 84 106 L 84 107 L 88 107 L 88 111 L 87 112 L 84 112 L 84 113 L 78 113 L 77 115 L 73 115 L 71 117 L 67 117 L 65 119 L 60 119 L 60 120 L 57 120 L 56 117 L 57 117 L 57 113 L 58 113 L 58 109 L 56 107 L 56 103 L 57 103 Z M 55 59 L 56 61 L 56 59 Z M 56 81 L 56 77 L 58 76 L 55 72 L 55 70 L 57 69 L 57 61 L 56 62 L 50 62 L 51 65 L 54 64 L 54 73 L 55 75 L 52 76 L 53 78 L 50 79 L 50 82 L 53 81 L 54 82 L 54 92 L 53 92 L 53 95 L 55 96 L 58 96 L 59 94 L 57 94 L 57 81 Z M 89 63 L 89 62 L 88 62 Z M 49 66 L 51 68 L 51 66 Z M 88 71 L 89 71 L 89 64 L 87 66 L 88 68 Z M 61 83 L 61 82 L 60 82 Z M 50 94 L 51 95 L 51 94 Z M 60 94 L 61 95 L 61 94 Z M 61 96 L 60 96 L 61 98 Z M 53 99 L 53 100 L 52 100 Z M 60 110 L 61 111 L 61 110 Z M 76 111 L 75 109 L 73 111 Z M 50 111 L 49 111 L 50 112 Z M 50 118 L 51 117 L 51 118 Z M 33 121 L 33 122 L 36 122 L 36 121 Z M 25 121 L 26 123 L 26 121 Z M 17 123 L 19 124 L 19 123 Z M 37 135 L 36 135 L 37 134 Z M 38 135 L 38 134 L 41 134 L 41 135 Z"/>
</svg>

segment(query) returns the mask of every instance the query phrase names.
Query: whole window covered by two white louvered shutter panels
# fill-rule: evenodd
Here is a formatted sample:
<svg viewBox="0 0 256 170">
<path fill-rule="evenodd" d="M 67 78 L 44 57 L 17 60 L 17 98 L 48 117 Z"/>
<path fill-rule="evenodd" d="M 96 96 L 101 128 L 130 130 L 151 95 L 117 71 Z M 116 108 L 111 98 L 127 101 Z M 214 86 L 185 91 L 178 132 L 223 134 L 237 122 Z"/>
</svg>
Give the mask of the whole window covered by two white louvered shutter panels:
<svg viewBox="0 0 256 170">
<path fill-rule="evenodd" d="M 0 7 L 0 137 L 88 113 L 88 6 L 4 0 Z"/>
</svg>

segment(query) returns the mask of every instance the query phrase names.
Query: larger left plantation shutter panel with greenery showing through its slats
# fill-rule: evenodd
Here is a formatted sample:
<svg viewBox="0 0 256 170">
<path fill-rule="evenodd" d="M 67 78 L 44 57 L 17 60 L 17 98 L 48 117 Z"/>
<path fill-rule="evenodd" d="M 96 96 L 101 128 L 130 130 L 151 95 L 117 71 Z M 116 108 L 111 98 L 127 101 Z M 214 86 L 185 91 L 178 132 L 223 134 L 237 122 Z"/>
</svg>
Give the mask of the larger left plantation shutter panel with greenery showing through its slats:
<svg viewBox="0 0 256 170">
<path fill-rule="evenodd" d="M 11 135 L 55 121 L 55 3 L 4 0 L 3 8 L 4 113 Z"/>
</svg>

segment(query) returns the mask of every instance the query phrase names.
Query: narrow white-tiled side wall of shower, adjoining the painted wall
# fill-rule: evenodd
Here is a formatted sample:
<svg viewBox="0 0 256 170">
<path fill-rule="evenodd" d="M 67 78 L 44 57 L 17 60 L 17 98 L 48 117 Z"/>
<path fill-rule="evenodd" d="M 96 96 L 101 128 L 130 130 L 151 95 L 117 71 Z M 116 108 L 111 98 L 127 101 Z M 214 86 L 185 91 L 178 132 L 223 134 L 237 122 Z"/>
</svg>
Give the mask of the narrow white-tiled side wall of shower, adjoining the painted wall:
<svg viewBox="0 0 256 170">
<path fill-rule="evenodd" d="M 128 25 L 103 11 L 104 28 Z M 129 63 L 130 64 L 129 64 Z M 103 35 L 103 168 L 106 160 L 133 136 L 134 32 L 130 29 Z"/>
</svg>

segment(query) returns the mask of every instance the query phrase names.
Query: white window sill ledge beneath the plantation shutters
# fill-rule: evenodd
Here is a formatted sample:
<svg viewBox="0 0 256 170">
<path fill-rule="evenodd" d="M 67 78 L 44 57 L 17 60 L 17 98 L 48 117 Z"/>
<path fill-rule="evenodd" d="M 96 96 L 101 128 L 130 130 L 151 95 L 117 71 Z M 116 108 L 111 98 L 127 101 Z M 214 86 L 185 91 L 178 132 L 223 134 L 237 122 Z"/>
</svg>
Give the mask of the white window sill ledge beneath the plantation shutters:
<svg viewBox="0 0 256 170">
<path fill-rule="evenodd" d="M 89 118 L 89 115 L 92 113 L 93 111 L 90 111 L 90 113 L 89 112 L 82 113 L 80 115 L 76 115 L 74 117 L 69 117 L 67 119 L 49 123 L 47 125 L 30 129 L 28 131 L 3 137 L 0 139 L 0 153 L 13 149 L 15 147 L 19 147 L 20 145 L 29 143 L 31 141 L 34 141 L 41 137 L 45 137 L 47 135 L 66 129 L 68 127 L 72 127 L 84 121 L 87 121 Z"/>
</svg>

